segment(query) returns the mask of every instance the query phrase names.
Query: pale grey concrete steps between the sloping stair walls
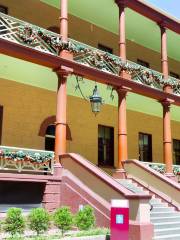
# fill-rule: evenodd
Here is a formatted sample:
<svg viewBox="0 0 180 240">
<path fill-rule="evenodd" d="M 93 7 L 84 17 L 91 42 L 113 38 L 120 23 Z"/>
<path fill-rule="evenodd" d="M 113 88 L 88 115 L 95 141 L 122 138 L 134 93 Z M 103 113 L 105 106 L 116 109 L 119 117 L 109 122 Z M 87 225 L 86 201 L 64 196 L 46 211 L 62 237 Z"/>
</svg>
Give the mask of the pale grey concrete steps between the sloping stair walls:
<svg viewBox="0 0 180 240">
<path fill-rule="evenodd" d="M 134 193 L 147 193 L 136 182 L 131 179 L 118 179 L 124 187 Z M 175 211 L 173 207 L 169 207 L 168 203 L 162 202 L 160 198 L 152 196 L 150 200 L 151 222 L 154 224 L 153 240 L 180 240 L 180 212 Z"/>
</svg>

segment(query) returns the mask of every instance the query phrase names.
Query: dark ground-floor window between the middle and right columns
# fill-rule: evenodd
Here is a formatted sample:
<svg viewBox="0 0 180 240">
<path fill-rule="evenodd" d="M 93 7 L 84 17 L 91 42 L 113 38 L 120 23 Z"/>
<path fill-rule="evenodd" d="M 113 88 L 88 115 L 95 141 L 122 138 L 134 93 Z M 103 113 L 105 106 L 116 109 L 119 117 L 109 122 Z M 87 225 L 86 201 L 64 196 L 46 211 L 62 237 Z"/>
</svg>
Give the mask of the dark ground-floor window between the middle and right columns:
<svg viewBox="0 0 180 240">
<path fill-rule="evenodd" d="M 152 135 L 139 133 L 139 160 L 152 162 Z"/>
</svg>

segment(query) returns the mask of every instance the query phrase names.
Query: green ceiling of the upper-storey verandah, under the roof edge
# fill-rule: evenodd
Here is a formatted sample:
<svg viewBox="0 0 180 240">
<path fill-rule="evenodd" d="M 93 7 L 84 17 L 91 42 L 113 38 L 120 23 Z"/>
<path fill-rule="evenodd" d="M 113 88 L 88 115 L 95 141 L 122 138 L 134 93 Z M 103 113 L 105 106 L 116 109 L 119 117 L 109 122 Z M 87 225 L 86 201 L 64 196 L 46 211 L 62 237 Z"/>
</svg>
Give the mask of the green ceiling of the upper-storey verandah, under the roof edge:
<svg viewBox="0 0 180 240">
<path fill-rule="evenodd" d="M 40 0 L 59 8 L 60 0 Z M 118 34 L 118 7 L 114 0 L 69 0 L 69 13 Z M 155 22 L 126 9 L 126 37 L 160 52 L 160 30 Z M 168 30 L 168 55 L 180 61 L 180 36 Z"/>
</svg>

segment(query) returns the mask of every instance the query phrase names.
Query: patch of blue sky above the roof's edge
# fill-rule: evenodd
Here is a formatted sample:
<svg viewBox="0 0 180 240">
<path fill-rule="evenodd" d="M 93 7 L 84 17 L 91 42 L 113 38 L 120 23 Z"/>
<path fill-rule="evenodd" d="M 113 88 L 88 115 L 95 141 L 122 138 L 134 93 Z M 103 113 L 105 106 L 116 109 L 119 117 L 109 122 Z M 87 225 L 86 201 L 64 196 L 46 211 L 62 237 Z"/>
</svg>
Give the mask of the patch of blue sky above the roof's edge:
<svg viewBox="0 0 180 240">
<path fill-rule="evenodd" d="M 146 0 L 170 15 L 180 19 L 180 0 Z"/>
</svg>

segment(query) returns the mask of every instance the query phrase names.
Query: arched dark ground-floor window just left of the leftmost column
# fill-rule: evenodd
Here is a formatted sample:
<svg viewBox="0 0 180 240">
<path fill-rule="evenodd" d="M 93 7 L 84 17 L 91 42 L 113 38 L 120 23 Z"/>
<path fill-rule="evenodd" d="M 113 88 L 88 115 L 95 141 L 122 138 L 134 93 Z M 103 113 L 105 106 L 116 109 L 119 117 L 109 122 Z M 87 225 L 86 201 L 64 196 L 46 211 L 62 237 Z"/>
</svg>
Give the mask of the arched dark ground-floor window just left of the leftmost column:
<svg viewBox="0 0 180 240">
<path fill-rule="evenodd" d="M 45 150 L 54 151 L 55 144 L 55 125 L 51 124 L 46 129 Z"/>
</svg>

